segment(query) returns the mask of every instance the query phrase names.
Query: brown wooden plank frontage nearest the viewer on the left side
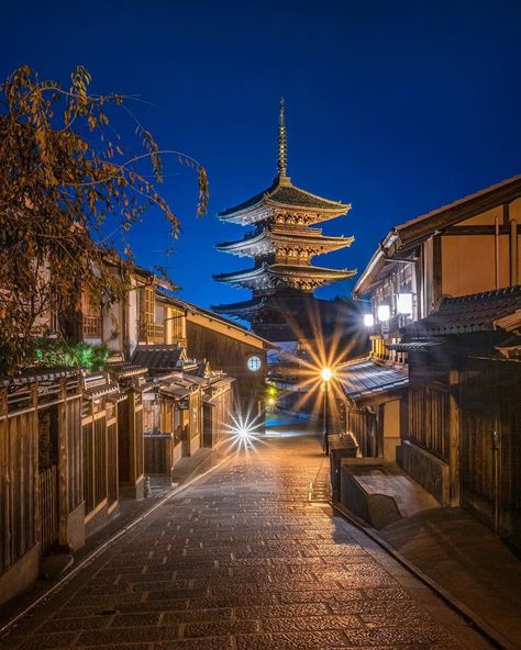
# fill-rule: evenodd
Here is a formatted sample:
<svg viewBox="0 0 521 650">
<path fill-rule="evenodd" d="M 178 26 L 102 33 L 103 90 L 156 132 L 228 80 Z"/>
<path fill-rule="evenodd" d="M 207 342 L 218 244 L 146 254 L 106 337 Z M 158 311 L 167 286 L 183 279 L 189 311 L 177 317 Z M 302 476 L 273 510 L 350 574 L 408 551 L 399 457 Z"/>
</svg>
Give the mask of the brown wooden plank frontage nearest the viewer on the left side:
<svg viewBox="0 0 521 650">
<path fill-rule="evenodd" d="M 81 385 L 75 370 L 0 382 L 0 604 L 42 556 L 85 540 Z"/>
</svg>

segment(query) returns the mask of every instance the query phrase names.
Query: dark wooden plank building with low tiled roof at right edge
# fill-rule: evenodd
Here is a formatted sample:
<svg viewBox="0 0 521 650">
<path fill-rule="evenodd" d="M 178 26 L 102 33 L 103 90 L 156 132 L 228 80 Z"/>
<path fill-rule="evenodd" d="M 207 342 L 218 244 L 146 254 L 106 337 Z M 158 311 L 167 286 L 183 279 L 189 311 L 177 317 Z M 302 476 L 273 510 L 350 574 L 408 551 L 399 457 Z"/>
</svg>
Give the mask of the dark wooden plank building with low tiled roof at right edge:
<svg viewBox="0 0 521 650">
<path fill-rule="evenodd" d="M 401 466 L 440 503 L 521 536 L 521 285 L 445 298 L 402 333 Z"/>
</svg>

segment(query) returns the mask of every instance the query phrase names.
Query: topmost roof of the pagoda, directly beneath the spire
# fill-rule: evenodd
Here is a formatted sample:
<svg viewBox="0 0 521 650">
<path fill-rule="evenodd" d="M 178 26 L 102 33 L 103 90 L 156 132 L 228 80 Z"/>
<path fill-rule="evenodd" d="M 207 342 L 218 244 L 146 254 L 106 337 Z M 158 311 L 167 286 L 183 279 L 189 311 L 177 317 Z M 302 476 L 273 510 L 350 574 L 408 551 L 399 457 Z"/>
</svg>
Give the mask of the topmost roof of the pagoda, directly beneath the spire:
<svg viewBox="0 0 521 650">
<path fill-rule="evenodd" d="M 289 177 L 279 175 L 269 188 L 234 208 L 229 208 L 220 212 L 219 217 L 222 221 L 239 223 L 243 221 L 260 221 L 266 215 L 259 214 L 255 216 L 253 213 L 263 206 L 279 206 L 289 210 L 298 210 L 300 208 L 304 211 L 315 211 L 318 214 L 325 213 L 325 218 L 340 216 L 351 209 L 350 204 L 342 203 L 342 201 L 331 201 L 302 190 L 293 186 Z M 247 216 L 251 218 L 247 220 Z"/>
</svg>

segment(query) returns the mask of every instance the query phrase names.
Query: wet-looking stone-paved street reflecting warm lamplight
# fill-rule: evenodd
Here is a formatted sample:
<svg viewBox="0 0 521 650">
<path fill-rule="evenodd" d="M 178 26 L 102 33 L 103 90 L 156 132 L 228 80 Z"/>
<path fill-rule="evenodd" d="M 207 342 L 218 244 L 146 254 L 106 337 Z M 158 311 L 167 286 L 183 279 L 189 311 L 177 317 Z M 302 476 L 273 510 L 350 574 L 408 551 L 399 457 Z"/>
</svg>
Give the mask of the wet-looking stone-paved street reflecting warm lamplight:
<svg viewBox="0 0 521 650">
<path fill-rule="evenodd" d="M 309 494 L 317 438 L 285 429 L 160 506 L 2 648 L 473 649 L 489 645 Z"/>
</svg>

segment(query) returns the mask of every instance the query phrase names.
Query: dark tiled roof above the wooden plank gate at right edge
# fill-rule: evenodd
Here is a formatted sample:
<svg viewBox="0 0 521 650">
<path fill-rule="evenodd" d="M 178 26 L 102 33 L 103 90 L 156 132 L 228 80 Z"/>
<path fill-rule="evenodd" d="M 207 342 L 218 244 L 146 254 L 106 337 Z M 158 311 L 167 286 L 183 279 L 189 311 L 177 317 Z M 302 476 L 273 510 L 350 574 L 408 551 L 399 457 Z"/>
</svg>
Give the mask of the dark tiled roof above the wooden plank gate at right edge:
<svg viewBox="0 0 521 650">
<path fill-rule="evenodd" d="M 445 298 L 436 312 L 403 328 L 407 338 L 492 332 L 496 321 L 521 310 L 521 284 L 459 298 Z"/>
</svg>

